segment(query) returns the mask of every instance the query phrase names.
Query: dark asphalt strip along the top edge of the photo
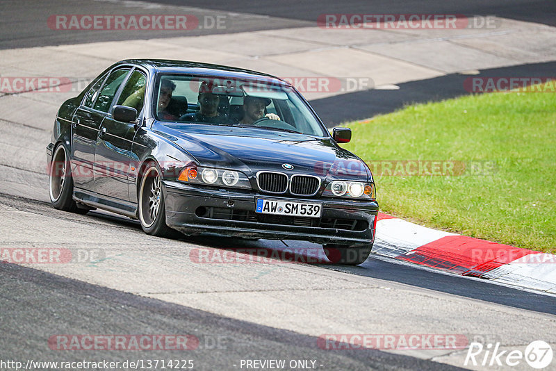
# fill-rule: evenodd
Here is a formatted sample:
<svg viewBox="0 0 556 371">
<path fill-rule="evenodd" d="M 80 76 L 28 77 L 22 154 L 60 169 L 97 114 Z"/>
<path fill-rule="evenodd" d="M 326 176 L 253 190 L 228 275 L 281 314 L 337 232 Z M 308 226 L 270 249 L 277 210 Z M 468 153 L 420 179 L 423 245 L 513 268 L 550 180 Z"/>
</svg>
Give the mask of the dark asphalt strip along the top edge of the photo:
<svg viewBox="0 0 556 371">
<path fill-rule="evenodd" d="M 485 1 L 334 1 L 323 0 L 318 3 L 288 1 L 179 1 L 155 0 L 150 3 L 161 4 L 160 7 L 145 5 L 140 1 L 70 1 L 60 0 L 44 3 L 40 0 L 26 1 L 22 7 L 19 1 L 7 0 L 2 3 L 2 22 L 0 23 L 0 49 L 14 47 L 37 47 L 56 44 L 78 44 L 101 40 L 126 40 L 136 38 L 133 33 L 102 31 L 101 33 L 57 33 L 44 31 L 44 24 L 38 22 L 45 14 L 124 14 L 134 10 L 152 10 L 153 14 L 164 14 L 172 11 L 172 6 L 189 7 L 188 14 L 216 15 L 222 12 L 236 13 L 237 19 L 233 27 L 218 32 L 234 33 L 256 31 L 272 28 L 290 28 L 313 25 L 319 15 L 325 13 L 424 13 L 424 14 L 464 14 L 464 15 L 497 15 L 556 26 L 556 7 L 553 1 L 543 0 L 493 0 Z M 110 11 L 106 11 L 109 7 Z M 247 13 L 250 16 L 241 15 Z M 15 32 L 17 31 L 17 32 Z M 215 30 L 190 31 L 190 35 L 214 33 Z M 183 35 L 183 31 L 167 31 L 163 35 L 156 31 L 145 31 L 145 38 L 172 37 Z M 189 34 L 188 34 L 189 35 Z"/>
</svg>

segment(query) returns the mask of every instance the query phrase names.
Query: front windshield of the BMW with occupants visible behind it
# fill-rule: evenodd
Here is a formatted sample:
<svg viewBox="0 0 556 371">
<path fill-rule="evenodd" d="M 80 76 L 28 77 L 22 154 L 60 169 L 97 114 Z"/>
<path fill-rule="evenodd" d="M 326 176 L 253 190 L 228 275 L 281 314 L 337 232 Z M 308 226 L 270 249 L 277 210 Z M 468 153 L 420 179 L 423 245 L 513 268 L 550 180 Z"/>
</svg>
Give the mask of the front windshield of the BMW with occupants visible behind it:
<svg viewBox="0 0 556 371">
<path fill-rule="evenodd" d="M 263 79 L 161 74 L 154 94 L 155 117 L 163 122 L 327 135 L 293 88 Z"/>
</svg>

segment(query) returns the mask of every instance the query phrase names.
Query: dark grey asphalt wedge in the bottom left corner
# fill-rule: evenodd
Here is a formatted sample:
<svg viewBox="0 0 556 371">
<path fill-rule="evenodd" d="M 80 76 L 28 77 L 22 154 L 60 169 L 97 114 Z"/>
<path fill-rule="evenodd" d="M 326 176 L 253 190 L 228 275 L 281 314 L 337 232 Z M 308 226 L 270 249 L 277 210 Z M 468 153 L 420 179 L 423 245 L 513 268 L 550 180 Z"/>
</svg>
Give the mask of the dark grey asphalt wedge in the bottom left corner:
<svg viewBox="0 0 556 371">
<path fill-rule="evenodd" d="M 2 333 L 6 345 L 10 344 L 3 347 L 2 359 L 51 359 L 51 350 L 44 349 L 44 338 L 49 338 L 52 333 L 72 333 L 76 327 L 86 327 L 91 333 L 104 333 L 107 329 L 142 333 L 148 328 L 149 333 L 190 331 L 199 334 L 199 348 L 185 355 L 194 360 L 195 368 L 199 370 L 230 370 L 233 363 L 239 364 L 247 355 L 255 359 L 318 360 L 320 370 L 459 369 L 376 350 L 352 350 L 337 356 L 316 347 L 316 338 L 293 331 L 222 318 L 17 265 L 3 264 L 0 270 L 3 279 Z M 17 298 L 6 297 L 8 292 L 17 292 Z M 17 319 L 17 322 L 9 318 Z M 30 331 L 22 343 L 22 332 L 26 327 L 32 329 L 28 329 Z M 71 352 L 62 357 L 67 361 L 104 357 L 122 362 L 129 358 L 122 352 L 108 356 L 106 352 L 86 351 Z M 172 352 L 153 351 L 142 352 L 137 358 L 168 357 L 175 356 Z"/>
</svg>

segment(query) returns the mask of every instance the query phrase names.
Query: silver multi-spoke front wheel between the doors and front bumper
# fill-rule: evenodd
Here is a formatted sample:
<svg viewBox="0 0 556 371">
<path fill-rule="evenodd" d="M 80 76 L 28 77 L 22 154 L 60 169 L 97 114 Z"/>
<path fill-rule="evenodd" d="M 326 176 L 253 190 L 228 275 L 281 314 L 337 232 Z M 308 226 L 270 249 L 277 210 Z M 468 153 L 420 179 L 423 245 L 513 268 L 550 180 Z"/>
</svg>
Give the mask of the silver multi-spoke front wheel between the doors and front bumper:
<svg viewBox="0 0 556 371">
<path fill-rule="evenodd" d="M 161 170 L 156 163 L 148 163 L 143 172 L 139 196 L 139 220 L 145 233 L 173 238 L 177 232 L 166 225 L 164 192 L 162 189 Z"/>
</svg>

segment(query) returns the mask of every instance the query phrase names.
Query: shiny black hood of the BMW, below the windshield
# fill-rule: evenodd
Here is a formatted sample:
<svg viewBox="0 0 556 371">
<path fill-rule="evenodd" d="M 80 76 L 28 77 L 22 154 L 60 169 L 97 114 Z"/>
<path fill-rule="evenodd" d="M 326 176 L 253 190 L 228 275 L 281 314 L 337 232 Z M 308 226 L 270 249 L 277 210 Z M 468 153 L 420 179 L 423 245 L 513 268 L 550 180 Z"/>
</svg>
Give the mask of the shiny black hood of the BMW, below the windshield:
<svg viewBox="0 0 556 371">
<path fill-rule="evenodd" d="M 366 165 L 332 138 L 229 126 L 170 127 L 177 144 L 202 166 L 256 173 L 261 170 L 315 174 L 345 179 L 366 178 Z M 201 126 L 201 127 L 198 127 Z M 283 165 L 293 165 L 285 170 Z"/>
</svg>

